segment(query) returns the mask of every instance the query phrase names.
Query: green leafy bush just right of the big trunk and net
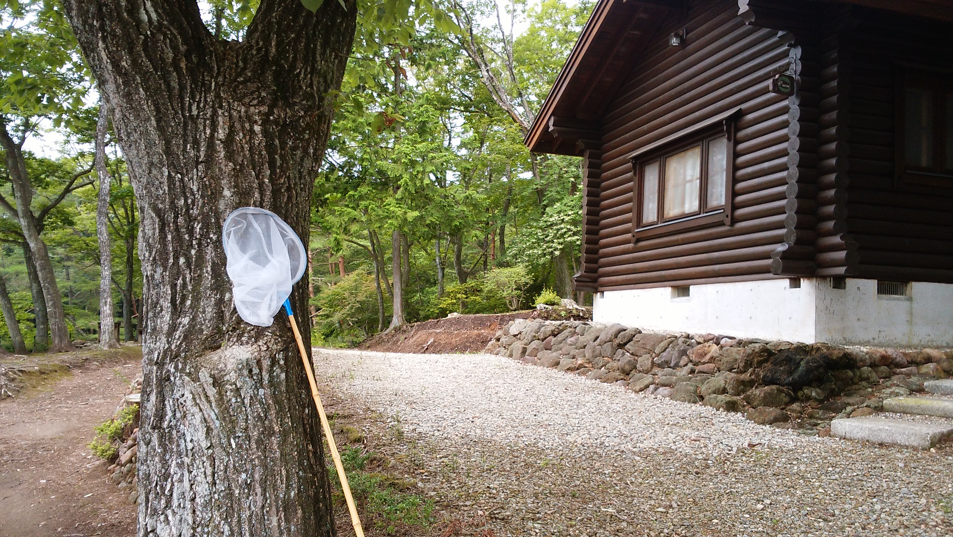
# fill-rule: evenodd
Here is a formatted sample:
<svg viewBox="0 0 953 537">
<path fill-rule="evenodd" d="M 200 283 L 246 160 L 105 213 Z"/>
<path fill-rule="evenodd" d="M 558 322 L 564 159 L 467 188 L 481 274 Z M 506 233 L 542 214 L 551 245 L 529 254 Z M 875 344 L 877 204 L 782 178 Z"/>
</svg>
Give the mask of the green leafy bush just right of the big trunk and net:
<svg viewBox="0 0 953 537">
<path fill-rule="evenodd" d="M 374 274 L 359 268 L 314 297 L 314 343 L 354 347 L 377 328 Z"/>
</svg>

